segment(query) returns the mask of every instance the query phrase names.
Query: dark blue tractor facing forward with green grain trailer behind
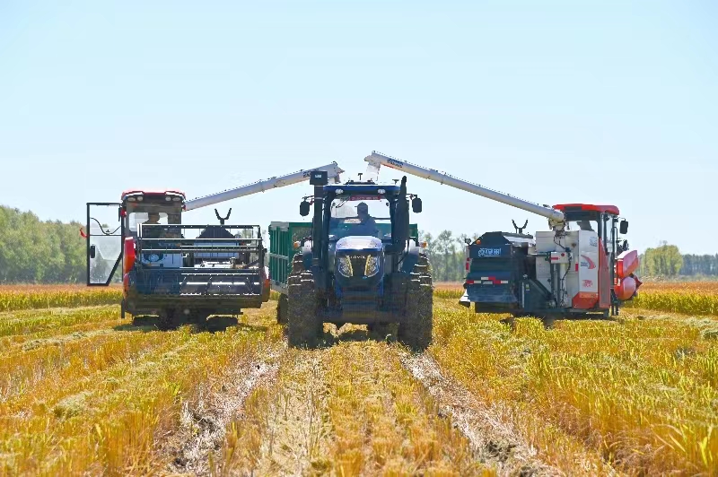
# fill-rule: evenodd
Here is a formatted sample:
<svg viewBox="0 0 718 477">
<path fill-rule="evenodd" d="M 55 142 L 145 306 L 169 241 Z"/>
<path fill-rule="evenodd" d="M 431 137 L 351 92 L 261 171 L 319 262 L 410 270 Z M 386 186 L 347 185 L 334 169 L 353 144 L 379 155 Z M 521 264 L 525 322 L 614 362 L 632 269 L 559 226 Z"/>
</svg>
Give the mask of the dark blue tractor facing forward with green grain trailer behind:
<svg viewBox="0 0 718 477">
<path fill-rule="evenodd" d="M 328 185 L 326 174 L 316 172 L 311 185 L 314 194 L 300 204 L 302 216 L 313 204 L 311 224 L 270 226 L 270 269 L 277 270 L 281 293 L 277 318 L 286 323 L 290 345 L 316 345 L 323 323 L 353 323 L 382 335 L 398 324 L 401 342 L 428 346 L 432 275 L 416 225 L 409 224 L 409 198 L 414 212 L 422 204 L 407 195 L 407 178 L 400 186 Z"/>
</svg>

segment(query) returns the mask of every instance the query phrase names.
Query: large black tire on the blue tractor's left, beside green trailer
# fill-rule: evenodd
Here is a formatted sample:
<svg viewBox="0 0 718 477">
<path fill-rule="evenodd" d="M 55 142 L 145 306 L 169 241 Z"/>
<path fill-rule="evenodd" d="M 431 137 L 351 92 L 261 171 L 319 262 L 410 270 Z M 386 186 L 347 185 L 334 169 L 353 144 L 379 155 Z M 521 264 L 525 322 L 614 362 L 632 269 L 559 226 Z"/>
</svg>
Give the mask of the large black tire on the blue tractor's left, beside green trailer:
<svg viewBox="0 0 718 477">
<path fill-rule="evenodd" d="M 322 322 L 317 316 L 317 294 L 314 276 L 304 271 L 301 256 L 293 261 L 293 272 L 287 280 L 286 336 L 294 348 L 314 348 L 319 344 Z"/>
</svg>

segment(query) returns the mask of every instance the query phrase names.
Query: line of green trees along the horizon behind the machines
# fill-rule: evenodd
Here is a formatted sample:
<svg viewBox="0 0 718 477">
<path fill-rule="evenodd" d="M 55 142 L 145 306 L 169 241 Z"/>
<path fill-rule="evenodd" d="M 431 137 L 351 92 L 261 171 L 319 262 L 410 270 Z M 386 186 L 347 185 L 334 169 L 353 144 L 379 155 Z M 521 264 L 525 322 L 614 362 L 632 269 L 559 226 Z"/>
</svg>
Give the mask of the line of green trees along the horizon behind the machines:
<svg viewBox="0 0 718 477">
<path fill-rule="evenodd" d="M 86 258 L 78 221 L 40 221 L 33 212 L 0 205 L 0 283 L 84 283 Z M 465 239 L 443 230 L 420 232 L 433 267 L 434 282 L 461 282 L 466 276 Z M 718 278 L 718 254 L 683 255 L 662 242 L 641 256 L 639 276 Z"/>
</svg>

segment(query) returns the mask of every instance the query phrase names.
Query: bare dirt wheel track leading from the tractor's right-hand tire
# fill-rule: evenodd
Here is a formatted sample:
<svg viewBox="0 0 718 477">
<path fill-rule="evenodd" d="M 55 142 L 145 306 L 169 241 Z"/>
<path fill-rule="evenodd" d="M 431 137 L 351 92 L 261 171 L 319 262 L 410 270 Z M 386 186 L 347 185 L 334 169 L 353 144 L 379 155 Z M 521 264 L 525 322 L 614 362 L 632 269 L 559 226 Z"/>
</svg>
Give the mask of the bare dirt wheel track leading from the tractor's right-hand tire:
<svg viewBox="0 0 718 477">
<path fill-rule="evenodd" d="M 495 464 L 502 475 L 561 475 L 538 458 L 501 412 L 488 408 L 459 383 L 445 377 L 427 354 L 400 352 L 401 363 L 437 400 L 441 412 L 451 414 L 454 425 L 468 438 L 479 460 Z"/>
</svg>

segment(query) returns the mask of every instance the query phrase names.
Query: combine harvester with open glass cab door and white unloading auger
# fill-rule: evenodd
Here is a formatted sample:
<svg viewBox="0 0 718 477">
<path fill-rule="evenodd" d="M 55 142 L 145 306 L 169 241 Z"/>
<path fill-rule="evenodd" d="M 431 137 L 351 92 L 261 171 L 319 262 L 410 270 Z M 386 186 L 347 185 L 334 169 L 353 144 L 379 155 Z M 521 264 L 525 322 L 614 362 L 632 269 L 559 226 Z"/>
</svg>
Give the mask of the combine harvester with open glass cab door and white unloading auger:
<svg viewBox="0 0 718 477">
<path fill-rule="evenodd" d="M 336 163 L 318 169 L 337 179 L 342 172 Z M 178 190 L 132 189 L 120 203 L 87 204 L 87 284 L 107 286 L 121 268 L 122 317 L 158 316 L 163 328 L 259 308 L 270 290 L 260 227 L 227 225 L 218 213 L 219 225 L 188 225 L 182 212 L 302 182 L 309 172 L 191 201 Z"/>
</svg>

